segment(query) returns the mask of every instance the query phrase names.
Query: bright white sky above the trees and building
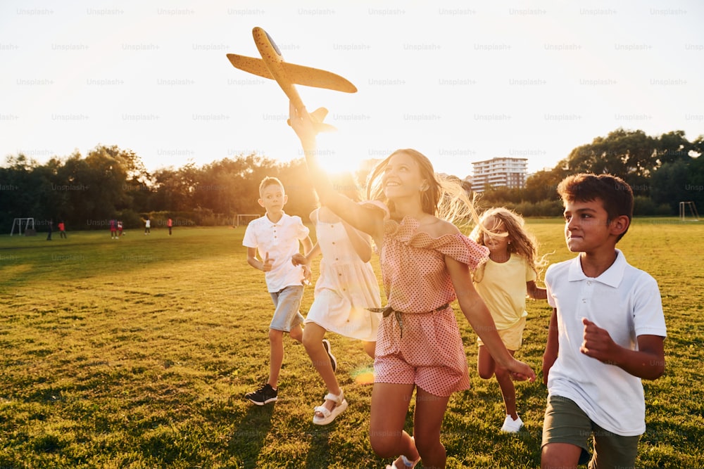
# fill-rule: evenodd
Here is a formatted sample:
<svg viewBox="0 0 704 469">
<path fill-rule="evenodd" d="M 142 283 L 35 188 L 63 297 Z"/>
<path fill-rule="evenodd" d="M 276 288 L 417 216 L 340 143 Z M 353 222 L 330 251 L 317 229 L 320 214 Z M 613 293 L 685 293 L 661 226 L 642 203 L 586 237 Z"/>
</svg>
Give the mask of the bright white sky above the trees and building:
<svg viewBox="0 0 704 469">
<path fill-rule="evenodd" d="M 331 169 L 397 148 L 437 172 L 527 158 L 552 168 L 619 127 L 704 134 L 704 3 L 673 1 L 61 1 L 0 3 L 0 158 L 43 163 L 98 145 L 150 171 L 257 153 L 302 158 L 258 57 L 335 72 L 356 94 L 298 86 L 329 110 Z"/>
</svg>

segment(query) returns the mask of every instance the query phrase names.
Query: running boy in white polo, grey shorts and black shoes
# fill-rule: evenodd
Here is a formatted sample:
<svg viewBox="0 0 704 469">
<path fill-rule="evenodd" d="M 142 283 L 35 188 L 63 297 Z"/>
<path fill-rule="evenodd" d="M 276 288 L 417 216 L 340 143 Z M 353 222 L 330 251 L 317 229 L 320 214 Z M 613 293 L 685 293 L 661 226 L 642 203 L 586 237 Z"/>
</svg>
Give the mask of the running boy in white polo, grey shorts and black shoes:
<svg viewBox="0 0 704 469">
<path fill-rule="evenodd" d="M 242 245 L 247 247 L 247 263 L 264 272 L 267 290 L 274 302 L 274 316 L 269 325 L 269 379 L 258 390 L 245 394 L 253 404 L 263 406 L 277 400 L 277 382 L 284 359 L 284 333 L 301 342 L 303 316 L 298 311 L 303 297 L 303 270 L 294 266 L 291 257 L 303 245 L 305 254 L 313 248 L 309 230 L 301 217 L 284 213 L 289 198 L 275 177 L 265 177 L 259 185 L 259 205 L 266 214 L 247 225 Z M 258 254 L 258 257 L 257 257 Z"/>
</svg>

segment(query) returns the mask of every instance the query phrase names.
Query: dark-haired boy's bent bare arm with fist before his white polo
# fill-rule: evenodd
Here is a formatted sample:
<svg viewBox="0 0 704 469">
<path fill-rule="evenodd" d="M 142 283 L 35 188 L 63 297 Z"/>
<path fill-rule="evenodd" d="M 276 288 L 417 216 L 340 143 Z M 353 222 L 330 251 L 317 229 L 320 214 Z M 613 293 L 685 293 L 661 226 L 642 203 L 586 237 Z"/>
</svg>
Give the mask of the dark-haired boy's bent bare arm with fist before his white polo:
<svg viewBox="0 0 704 469">
<path fill-rule="evenodd" d="M 660 335 L 639 335 L 638 349 L 631 350 L 614 342 L 608 330 L 583 318 L 584 342 L 579 351 L 602 363 L 618 366 L 631 375 L 655 380 L 665 373 L 665 338 Z"/>
</svg>

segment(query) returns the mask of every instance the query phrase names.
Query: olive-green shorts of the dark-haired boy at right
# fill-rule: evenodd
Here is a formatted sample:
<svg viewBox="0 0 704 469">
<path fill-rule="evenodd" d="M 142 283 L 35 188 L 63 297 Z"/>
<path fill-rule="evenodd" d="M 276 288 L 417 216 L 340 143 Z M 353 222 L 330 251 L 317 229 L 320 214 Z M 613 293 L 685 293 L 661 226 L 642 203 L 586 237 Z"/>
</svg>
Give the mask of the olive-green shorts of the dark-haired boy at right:
<svg viewBox="0 0 704 469">
<path fill-rule="evenodd" d="M 594 455 L 589 461 L 587 439 L 593 435 Z M 604 430 L 567 397 L 548 396 L 543 420 L 543 444 L 567 443 L 582 448 L 579 463 L 589 469 L 634 468 L 640 436 L 624 437 Z M 541 447 L 542 447 L 541 446 Z"/>
</svg>

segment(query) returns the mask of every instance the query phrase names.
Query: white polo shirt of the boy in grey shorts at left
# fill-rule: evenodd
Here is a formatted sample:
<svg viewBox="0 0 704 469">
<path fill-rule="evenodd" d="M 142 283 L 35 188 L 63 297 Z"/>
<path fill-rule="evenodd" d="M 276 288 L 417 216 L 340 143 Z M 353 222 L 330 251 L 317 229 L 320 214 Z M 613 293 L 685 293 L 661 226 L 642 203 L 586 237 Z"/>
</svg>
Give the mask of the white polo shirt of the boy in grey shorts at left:
<svg viewBox="0 0 704 469">
<path fill-rule="evenodd" d="M 285 213 L 276 223 L 264 215 L 247 225 L 242 245 L 257 248 L 262 260 L 267 252 L 269 259 L 274 259 L 272 269 L 264 273 L 270 293 L 277 293 L 289 285 L 301 285 L 303 269 L 291 264 L 291 257 L 300 252 L 298 240 L 305 239 L 309 232 L 301 217 L 291 217 Z"/>
</svg>

